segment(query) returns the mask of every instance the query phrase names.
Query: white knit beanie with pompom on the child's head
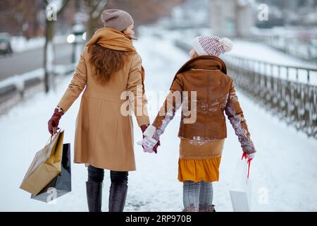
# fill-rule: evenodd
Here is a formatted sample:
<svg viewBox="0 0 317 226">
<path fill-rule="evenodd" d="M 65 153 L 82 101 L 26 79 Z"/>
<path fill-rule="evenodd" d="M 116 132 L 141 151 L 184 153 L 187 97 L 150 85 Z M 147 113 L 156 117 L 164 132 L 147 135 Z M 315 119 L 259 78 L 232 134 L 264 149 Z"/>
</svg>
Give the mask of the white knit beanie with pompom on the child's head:
<svg viewBox="0 0 317 226">
<path fill-rule="evenodd" d="M 198 36 L 194 39 L 192 47 L 199 56 L 219 57 L 220 54 L 230 52 L 233 47 L 232 41 L 227 37 Z"/>
</svg>

